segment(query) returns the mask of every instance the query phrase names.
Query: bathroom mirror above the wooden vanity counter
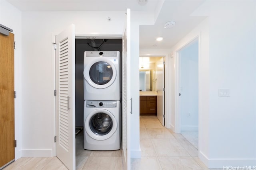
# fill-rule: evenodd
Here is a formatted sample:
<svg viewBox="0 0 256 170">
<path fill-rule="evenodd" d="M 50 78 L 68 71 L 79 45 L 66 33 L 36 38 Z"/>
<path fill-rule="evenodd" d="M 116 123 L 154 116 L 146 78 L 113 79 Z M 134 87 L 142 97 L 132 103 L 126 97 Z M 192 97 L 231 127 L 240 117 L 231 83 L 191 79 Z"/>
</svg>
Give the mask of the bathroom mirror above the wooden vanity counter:
<svg viewBox="0 0 256 170">
<path fill-rule="evenodd" d="M 155 91 L 155 70 L 140 70 L 140 91 Z"/>
</svg>

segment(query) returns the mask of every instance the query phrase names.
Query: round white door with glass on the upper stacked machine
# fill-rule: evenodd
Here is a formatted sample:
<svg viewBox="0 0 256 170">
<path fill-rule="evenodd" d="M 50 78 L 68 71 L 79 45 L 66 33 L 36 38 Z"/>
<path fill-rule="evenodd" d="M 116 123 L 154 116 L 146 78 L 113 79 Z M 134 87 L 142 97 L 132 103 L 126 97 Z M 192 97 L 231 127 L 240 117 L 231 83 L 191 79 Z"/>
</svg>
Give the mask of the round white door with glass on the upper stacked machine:
<svg viewBox="0 0 256 170">
<path fill-rule="evenodd" d="M 116 80 L 116 68 L 110 60 L 97 58 L 85 66 L 84 78 L 94 88 L 107 88 Z"/>
</svg>

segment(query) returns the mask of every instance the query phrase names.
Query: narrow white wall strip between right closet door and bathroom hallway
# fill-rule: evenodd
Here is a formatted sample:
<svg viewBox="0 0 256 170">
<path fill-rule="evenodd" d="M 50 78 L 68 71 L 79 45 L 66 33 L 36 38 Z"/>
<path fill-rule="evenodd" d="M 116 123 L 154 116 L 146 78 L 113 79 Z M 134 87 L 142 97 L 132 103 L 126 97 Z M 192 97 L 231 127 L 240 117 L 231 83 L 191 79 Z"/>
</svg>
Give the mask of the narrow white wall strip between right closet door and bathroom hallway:
<svg viewBox="0 0 256 170">
<path fill-rule="evenodd" d="M 139 16 L 139 17 L 138 17 Z M 140 57 L 140 25 L 150 25 L 154 23 L 154 14 L 141 14 L 131 12 L 131 157 L 140 158 L 140 89 L 139 89 L 139 57 Z"/>
</svg>

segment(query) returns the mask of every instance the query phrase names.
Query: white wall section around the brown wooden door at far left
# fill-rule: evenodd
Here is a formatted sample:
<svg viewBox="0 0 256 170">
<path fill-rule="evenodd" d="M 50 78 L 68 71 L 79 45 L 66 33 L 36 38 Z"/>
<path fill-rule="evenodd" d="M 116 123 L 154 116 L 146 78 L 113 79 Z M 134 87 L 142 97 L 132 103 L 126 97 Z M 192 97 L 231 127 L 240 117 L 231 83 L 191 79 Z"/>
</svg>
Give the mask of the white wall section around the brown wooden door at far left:
<svg viewBox="0 0 256 170">
<path fill-rule="evenodd" d="M 15 139 L 17 140 L 17 147 L 15 148 L 15 159 L 21 157 L 22 149 L 22 19 L 21 11 L 6 2 L 0 0 L 0 23 L 6 27 L 13 29 L 14 41 L 17 46 L 14 50 L 14 89 L 17 92 L 15 99 Z"/>
</svg>

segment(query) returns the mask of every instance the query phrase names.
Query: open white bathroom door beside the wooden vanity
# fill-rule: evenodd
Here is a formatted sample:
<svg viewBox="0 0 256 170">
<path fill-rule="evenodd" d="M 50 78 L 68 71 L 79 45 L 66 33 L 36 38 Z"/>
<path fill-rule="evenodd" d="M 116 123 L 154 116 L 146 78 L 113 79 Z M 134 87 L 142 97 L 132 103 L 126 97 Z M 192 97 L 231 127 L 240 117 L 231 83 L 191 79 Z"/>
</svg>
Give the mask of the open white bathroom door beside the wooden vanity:
<svg viewBox="0 0 256 170">
<path fill-rule="evenodd" d="M 156 62 L 157 118 L 164 126 L 164 57 Z"/>
</svg>

